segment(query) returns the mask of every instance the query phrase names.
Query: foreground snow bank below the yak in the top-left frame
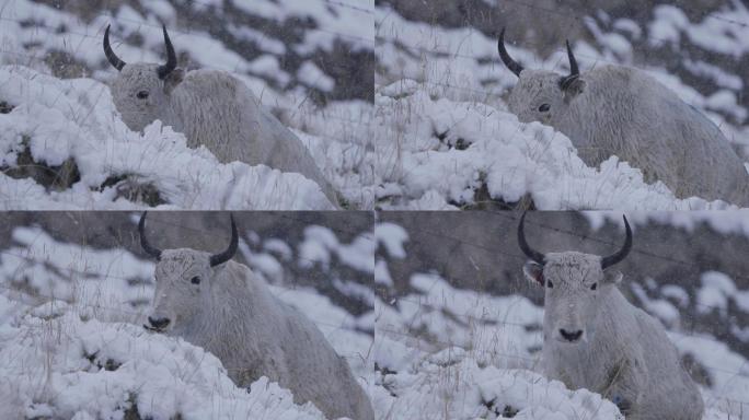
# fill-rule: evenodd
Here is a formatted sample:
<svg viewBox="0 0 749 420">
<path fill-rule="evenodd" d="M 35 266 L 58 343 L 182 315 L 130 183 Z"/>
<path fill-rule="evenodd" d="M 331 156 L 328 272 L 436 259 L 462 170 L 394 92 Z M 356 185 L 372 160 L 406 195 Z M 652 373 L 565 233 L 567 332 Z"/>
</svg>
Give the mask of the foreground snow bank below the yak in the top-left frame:
<svg viewBox="0 0 749 420">
<path fill-rule="evenodd" d="M 142 135 L 117 117 L 108 89 L 91 79 L 59 80 L 23 67 L 0 68 L 0 95 L 16 107 L 0 118 L 0 164 L 13 166 L 30 148 L 37 162 L 60 166 L 72 158 L 80 180 L 49 190 L 30 178 L 1 175 L 4 209 L 127 209 L 137 194 L 127 182 L 153 186 L 175 209 L 295 209 L 334 207 L 300 174 L 240 162 L 220 164 L 201 147 L 157 121 Z M 33 81 L 33 82 L 31 82 Z M 107 179 L 124 180 L 106 183 Z"/>
</svg>

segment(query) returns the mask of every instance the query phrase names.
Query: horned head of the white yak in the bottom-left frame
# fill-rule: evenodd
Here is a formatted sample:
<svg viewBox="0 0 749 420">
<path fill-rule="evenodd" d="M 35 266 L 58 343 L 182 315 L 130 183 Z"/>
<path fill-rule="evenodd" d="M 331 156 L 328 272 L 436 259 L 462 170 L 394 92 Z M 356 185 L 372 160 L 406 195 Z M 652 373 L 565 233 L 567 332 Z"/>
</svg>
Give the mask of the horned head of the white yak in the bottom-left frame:
<svg viewBox="0 0 749 420">
<path fill-rule="evenodd" d="M 189 248 L 158 249 L 146 238 L 145 223 L 143 212 L 138 223 L 140 246 L 158 262 L 153 310 L 143 327 L 158 332 L 188 329 L 199 308 L 209 303 L 210 288 L 219 281 L 223 264 L 237 253 L 239 234 L 234 218 L 231 217 L 231 243 L 219 254 Z"/>
</svg>

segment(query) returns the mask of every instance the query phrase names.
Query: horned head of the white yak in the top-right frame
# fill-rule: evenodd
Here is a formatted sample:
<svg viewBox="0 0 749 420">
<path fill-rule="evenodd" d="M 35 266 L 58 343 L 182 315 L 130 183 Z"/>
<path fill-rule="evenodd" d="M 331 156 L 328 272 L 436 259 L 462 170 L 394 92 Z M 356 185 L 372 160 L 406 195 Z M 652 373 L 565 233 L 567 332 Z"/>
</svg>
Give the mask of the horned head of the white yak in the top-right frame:
<svg viewBox="0 0 749 420">
<path fill-rule="evenodd" d="M 518 116 L 520 122 L 540 121 L 555 127 L 556 122 L 566 115 L 569 104 L 586 88 L 569 42 L 567 42 L 571 70 L 568 75 L 561 75 L 553 71 L 523 69 L 505 48 L 504 28 L 499 33 L 497 46 L 502 61 L 518 77 L 518 83 L 512 88 L 507 101 L 509 110 Z"/>
</svg>

